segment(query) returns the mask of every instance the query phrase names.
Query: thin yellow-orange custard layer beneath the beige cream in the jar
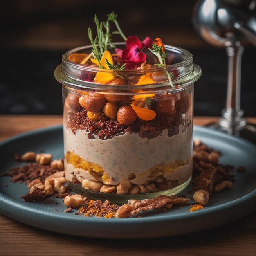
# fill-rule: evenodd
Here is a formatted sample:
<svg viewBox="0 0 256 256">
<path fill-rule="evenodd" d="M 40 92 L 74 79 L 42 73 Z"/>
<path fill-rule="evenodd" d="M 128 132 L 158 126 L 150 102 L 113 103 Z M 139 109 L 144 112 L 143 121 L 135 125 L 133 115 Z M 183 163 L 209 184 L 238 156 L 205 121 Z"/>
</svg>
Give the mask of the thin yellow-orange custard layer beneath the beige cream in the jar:
<svg viewBox="0 0 256 256">
<path fill-rule="evenodd" d="M 72 166 L 75 169 L 89 171 L 92 177 L 94 177 L 96 180 L 104 182 L 105 184 L 108 183 L 110 181 L 110 177 L 112 177 L 111 173 L 108 175 L 105 173 L 103 167 L 93 162 L 86 161 L 85 159 L 75 154 L 74 152 L 67 151 L 67 153 L 65 154 L 65 161 L 67 162 L 67 164 L 72 164 Z M 181 166 L 185 166 L 188 163 L 189 161 L 184 163 L 183 161 L 175 160 L 175 162 L 171 164 L 157 164 L 146 172 L 139 173 L 139 174 L 130 173 L 129 180 L 131 181 L 136 180 L 137 178 L 140 178 L 140 177 L 147 177 L 148 180 L 153 180 L 159 175 L 173 173 L 178 168 L 180 168 Z M 122 175 L 121 170 L 120 170 L 120 175 Z"/>
</svg>

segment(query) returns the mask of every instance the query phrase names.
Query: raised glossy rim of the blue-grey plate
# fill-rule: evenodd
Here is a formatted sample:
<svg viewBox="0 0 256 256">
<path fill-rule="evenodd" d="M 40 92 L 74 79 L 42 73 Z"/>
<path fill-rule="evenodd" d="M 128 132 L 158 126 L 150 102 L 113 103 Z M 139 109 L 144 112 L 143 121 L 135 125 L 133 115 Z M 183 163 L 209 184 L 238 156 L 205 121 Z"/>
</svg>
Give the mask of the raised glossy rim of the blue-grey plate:
<svg viewBox="0 0 256 256">
<path fill-rule="evenodd" d="M 39 129 L 34 129 L 34 130 L 30 130 L 28 132 L 23 132 L 21 134 L 15 135 L 13 137 L 10 137 L 8 139 L 5 139 L 4 141 L 0 142 L 0 147 L 4 146 L 5 144 L 8 144 L 11 141 L 14 141 L 16 139 L 20 139 L 22 137 L 26 137 L 29 135 L 35 135 L 38 133 L 42 133 L 42 132 L 51 132 L 54 130 L 60 130 L 63 129 L 63 125 L 55 125 L 55 126 L 47 126 L 44 128 L 39 128 Z M 250 141 L 247 141 L 245 139 L 239 138 L 239 137 L 233 137 L 231 135 L 227 135 L 225 132 L 220 132 L 218 130 L 214 130 L 211 128 L 206 128 L 206 127 L 202 127 L 202 126 L 194 126 L 194 130 L 196 132 L 199 133 L 206 133 L 209 134 L 209 132 L 211 134 L 213 134 L 214 136 L 218 136 L 218 137 L 225 137 L 226 139 L 232 140 L 232 141 L 236 141 L 240 144 L 243 144 L 246 147 L 251 148 L 252 150 L 255 151 L 256 153 L 256 146 L 254 144 L 252 144 Z M 65 216 L 65 215 L 58 215 L 57 212 L 46 212 L 43 211 L 43 209 L 40 208 L 33 208 L 33 207 L 24 207 L 24 202 L 19 202 L 18 200 L 11 198 L 7 195 L 5 195 L 4 193 L 0 192 L 0 204 L 2 205 L 2 207 L 0 207 L 0 212 L 5 214 L 7 213 L 7 216 L 11 216 L 11 218 L 13 217 L 13 214 L 11 214 L 10 210 L 11 208 L 14 207 L 14 209 L 16 209 L 16 211 L 22 211 L 22 212 L 26 212 L 27 214 L 37 214 L 38 218 L 39 217 L 43 217 L 45 218 L 45 216 L 47 216 L 48 218 L 51 218 L 52 222 L 54 222 L 54 220 L 59 219 L 61 221 L 74 221 L 76 223 L 79 223 L 81 225 L 86 225 L 87 223 L 93 224 L 95 223 L 95 221 L 97 221 L 97 223 L 99 224 L 115 224 L 115 225 L 137 225 L 138 223 L 141 224 L 148 224 L 148 223 L 152 223 L 154 222 L 155 224 L 158 223 L 162 223 L 162 222 L 172 222 L 174 220 L 184 220 L 187 219 L 187 217 L 189 216 L 189 219 L 194 220 L 197 218 L 201 218 L 202 216 L 208 215 L 208 214 L 215 214 L 215 213 L 222 213 L 227 211 L 227 209 L 234 209 L 236 207 L 239 207 L 240 204 L 248 204 L 250 200 L 256 200 L 256 189 L 254 189 L 253 191 L 251 191 L 250 193 L 243 195 L 240 198 L 237 198 L 235 200 L 232 200 L 230 202 L 226 202 L 220 205 L 216 205 L 216 206 L 211 206 L 211 208 L 204 208 L 201 211 L 195 211 L 195 212 L 186 212 L 186 213 L 180 213 L 180 214 L 170 214 L 170 215 L 155 215 L 155 216 L 147 216 L 146 218 L 113 218 L 113 219 L 106 219 L 106 218 L 96 218 L 96 217 L 84 217 L 83 218 L 69 218 L 69 216 Z M 6 209 L 6 210 L 5 210 Z M 251 207 L 248 207 L 246 212 L 246 215 L 255 211 L 256 210 L 256 205 L 252 205 Z M 189 214 L 189 215 L 188 215 Z M 25 222 L 24 220 L 19 220 L 18 218 L 14 218 L 20 222 L 23 222 L 25 224 L 29 224 L 29 222 Z M 41 219 L 41 218 L 40 218 Z M 237 219 L 237 218 L 236 218 Z M 225 222 L 227 223 L 227 222 Z M 40 223 L 39 223 L 40 224 Z M 35 225 L 32 225 L 34 227 L 36 227 Z M 40 225 L 38 225 L 39 227 Z M 42 228 L 42 227 L 40 227 Z M 47 228 L 45 228 L 47 229 Z M 50 229 L 47 229 L 50 230 Z M 203 229 L 202 229 L 203 230 Z M 51 230 L 54 231 L 54 230 Z M 199 230 L 198 230 L 199 231 Z M 58 231 L 55 231 L 58 232 Z M 59 233 L 63 233 L 63 232 L 59 232 Z M 65 233 L 65 234 L 69 234 L 69 233 Z M 95 236 L 94 236 L 95 237 Z M 101 237 L 101 236 L 98 236 Z M 106 236 L 102 236 L 103 238 L 106 238 Z"/>
</svg>

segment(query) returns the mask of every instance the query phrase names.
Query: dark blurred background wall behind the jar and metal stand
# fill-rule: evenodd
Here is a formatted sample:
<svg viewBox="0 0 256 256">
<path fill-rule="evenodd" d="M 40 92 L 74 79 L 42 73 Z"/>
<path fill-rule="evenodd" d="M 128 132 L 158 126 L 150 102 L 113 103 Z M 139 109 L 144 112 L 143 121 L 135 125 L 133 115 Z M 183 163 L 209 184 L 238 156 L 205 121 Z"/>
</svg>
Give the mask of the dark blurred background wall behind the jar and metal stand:
<svg viewBox="0 0 256 256">
<path fill-rule="evenodd" d="M 128 37 L 161 37 L 165 44 L 188 49 L 203 71 L 195 83 L 195 115 L 220 115 L 225 106 L 227 56 L 225 49 L 205 43 L 191 24 L 195 0 L 85 1 L 14 0 L 1 2 L 1 114 L 61 114 L 61 85 L 54 69 L 67 50 L 88 45 L 99 20 L 115 11 Z M 115 39 L 115 38 L 114 38 Z M 116 40 L 121 40 L 117 36 Z M 256 49 L 245 46 L 242 61 L 241 106 L 256 116 Z"/>
</svg>

